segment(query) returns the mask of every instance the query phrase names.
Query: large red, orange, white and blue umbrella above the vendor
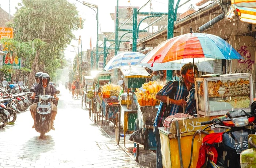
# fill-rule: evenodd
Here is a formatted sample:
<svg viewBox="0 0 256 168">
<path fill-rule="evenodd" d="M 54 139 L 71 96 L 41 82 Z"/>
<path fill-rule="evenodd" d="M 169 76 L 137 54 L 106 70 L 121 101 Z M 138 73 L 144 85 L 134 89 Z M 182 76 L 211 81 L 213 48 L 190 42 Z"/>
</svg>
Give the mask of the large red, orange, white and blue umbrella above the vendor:
<svg viewBox="0 0 256 168">
<path fill-rule="evenodd" d="M 148 52 L 138 64 L 151 67 L 171 63 L 199 63 L 214 59 L 244 59 L 229 43 L 206 33 L 187 33 L 168 39 Z"/>
</svg>

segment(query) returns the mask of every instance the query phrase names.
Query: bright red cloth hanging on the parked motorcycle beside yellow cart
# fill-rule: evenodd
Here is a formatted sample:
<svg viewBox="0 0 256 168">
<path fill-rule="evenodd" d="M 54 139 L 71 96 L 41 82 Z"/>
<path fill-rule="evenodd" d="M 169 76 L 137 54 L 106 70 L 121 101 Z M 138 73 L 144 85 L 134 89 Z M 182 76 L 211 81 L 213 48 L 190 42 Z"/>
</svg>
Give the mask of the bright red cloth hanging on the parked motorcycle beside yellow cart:
<svg viewBox="0 0 256 168">
<path fill-rule="evenodd" d="M 222 134 L 221 133 L 210 133 L 206 135 L 203 138 L 203 143 L 199 149 L 199 157 L 197 160 L 196 168 L 201 168 L 205 161 L 206 161 L 206 154 L 209 152 L 210 153 L 210 160 L 212 160 L 214 163 L 217 163 L 217 158 L 218 158 L 218 152 L 215 149 L 212 144 L 214 143 L 222 143 Z"/>
</svg>

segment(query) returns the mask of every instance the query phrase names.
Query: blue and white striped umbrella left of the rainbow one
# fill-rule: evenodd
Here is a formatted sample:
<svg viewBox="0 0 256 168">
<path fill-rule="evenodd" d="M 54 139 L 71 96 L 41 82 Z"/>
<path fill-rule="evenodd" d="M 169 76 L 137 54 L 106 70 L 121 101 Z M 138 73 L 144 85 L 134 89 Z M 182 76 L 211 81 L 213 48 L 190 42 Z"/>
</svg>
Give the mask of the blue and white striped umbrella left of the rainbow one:
<svg viewBox="0 0 256 168">
<path fill-rule="evenodd" d="M 110 71 L 112 69 L 120 68 L 127 65 L 136 65 L 143 57 L 144 54 L 140 52 L 122 52 L 110 59 L 104 70 Z"/>
</svg>

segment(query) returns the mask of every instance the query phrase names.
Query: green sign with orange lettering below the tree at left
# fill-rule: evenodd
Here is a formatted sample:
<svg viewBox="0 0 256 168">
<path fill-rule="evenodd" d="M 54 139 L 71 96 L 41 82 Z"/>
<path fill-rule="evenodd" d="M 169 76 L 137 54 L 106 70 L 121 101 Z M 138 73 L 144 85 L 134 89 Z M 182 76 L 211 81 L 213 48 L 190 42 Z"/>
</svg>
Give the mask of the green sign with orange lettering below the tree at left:
<svg viewBox="0 0 256 168">
<path fill-rule="evenodd" d="M 6 55 L 3 56 L 3 65 L 12 65 L 13 69 L 20 69 L 21 68 L 21 60 L 16 55 L 10 55 L 8 52 Z"/>
</svg>

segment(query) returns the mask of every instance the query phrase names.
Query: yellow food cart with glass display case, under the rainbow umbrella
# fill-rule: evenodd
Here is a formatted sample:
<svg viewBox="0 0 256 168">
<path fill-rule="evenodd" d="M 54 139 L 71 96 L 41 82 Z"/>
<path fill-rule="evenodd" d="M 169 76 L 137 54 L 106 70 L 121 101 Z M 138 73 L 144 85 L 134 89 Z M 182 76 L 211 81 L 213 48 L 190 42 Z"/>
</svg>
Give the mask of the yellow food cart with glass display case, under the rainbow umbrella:
<svg viewBox="0 0 256 168">
<path fill-rule="evenodd" d="M 158 128 L 162 163 L 165 168 L 181 167 L 181 164 L 183 167 L 196 166 L 199 147 L 206 135 L 196 134 L 196 131 L 202 128 L 200 122 L 225 115 L 228 111 L 243 109 L 250 112 L 251 110 L 250 105 L 253 102 L 251 73 L 202 75 L 195 78 L 195 90 L 198 117 L 180 118 L 178 121 L 172 121 L 167 129 Z M 209 133 L 218 131 L 225 129 L 212 128 Z"/>
</svg>

